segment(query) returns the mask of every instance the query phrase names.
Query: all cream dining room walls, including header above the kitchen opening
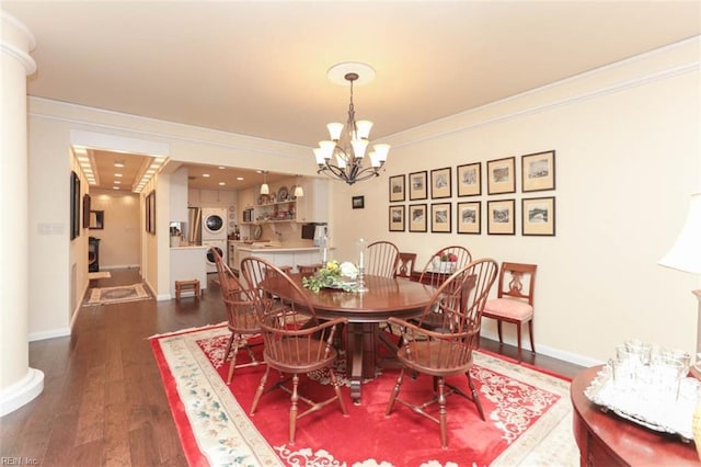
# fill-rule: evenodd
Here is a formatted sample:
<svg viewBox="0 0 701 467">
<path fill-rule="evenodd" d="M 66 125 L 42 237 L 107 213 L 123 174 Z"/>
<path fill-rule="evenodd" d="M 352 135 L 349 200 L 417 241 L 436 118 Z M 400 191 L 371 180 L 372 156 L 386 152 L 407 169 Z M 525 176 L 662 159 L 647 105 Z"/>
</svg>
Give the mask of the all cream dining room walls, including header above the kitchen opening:
<svg viewBox="0 0 701 467">
<path fill-rule="evenodd" d="M 694 349 L 697 304 L 690 291 L 699 280 L 656 261 L 681 227 L 689 194 L 701 186 L 698 49 L 699 41 L 687 42 L 393 135 L 382 176 L 353 187 L 331 184 L 337 257 L 352 259 L 355 240 L 365 236 L 415 251 L 420 262 L 453 242 L 467 244 L 475 257 L 536 262 L 539 352 L 586 364 L 606 360 L 630 337 Z M 74 128 L 160 141 L 182 161 L 315 172 L 309 148 L 31 99 L 31 167 L 49 169 L 42 171 L 42 183 L 31 183 L 32 225 L 67 221 L 66 148 Z M 518 221 L 517 235 L 506 237 L 486 235 L 484 224 L 480 236 L 388 231 L 389 176 L 444 167 L 455 175 L 457 164 L 481 161 L 485 170 L 485 161 L 510 156 L 520 176 L 520 155 L 550 149 L 556 150 L 556 190 L 542 194 L 556 196 L 555 237 L 524 237 Z M 160 196 L 168 192 L 166 176 L 154 183 L 158 209 L 166 214 L 161 203 L 168 200 Z M 487 196 L 484 189 L 478 197 L 483 215 L 486 201 L 518 202 L 519 192 Z M 353 195 L 365 195 L 365 209 L 350 208 Z M 147 280 L 159 292 L 168 289 L 168 220 L 158 216 L 159 234 L 142 246 Z M 31 282 L 42 283 L 50 297 L 32 298 L 30 332 L 41 335 L 68 326 L 61 307 L 68 303 L 69 241 L 66 236 L 31 241 L 36 249 Z M 65 300 L 57 305 L 57 296 Z M 485 333 L 493 332 L 486 324 Z M 507 338 L 514 339 L 512 330 Z"/>
</svg>

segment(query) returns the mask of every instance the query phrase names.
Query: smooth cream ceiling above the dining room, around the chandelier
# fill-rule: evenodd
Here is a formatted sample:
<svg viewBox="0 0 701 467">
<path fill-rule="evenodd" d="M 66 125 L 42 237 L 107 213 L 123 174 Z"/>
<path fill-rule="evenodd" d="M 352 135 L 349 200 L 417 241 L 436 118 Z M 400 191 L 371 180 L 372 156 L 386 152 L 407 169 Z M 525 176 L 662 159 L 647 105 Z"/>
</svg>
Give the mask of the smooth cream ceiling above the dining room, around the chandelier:
<svg viewBox="0 0 701 467">
<path fill-rule="evenodd" d="M 697 0 L 2 8 L 36 37 L 31 95 L 309 147 L 345 121 L 341 61 L 376 69 L 355 106 L 378 139 L 701 34 Z"/>
</svg>

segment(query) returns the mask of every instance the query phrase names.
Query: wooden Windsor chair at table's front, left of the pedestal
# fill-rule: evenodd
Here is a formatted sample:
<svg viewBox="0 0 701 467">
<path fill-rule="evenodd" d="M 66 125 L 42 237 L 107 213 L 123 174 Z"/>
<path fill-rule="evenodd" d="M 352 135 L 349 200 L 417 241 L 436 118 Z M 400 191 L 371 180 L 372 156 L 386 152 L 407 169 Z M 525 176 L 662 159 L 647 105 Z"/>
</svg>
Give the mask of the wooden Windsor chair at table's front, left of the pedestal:
<svg viewBox="0 0 701 467">
<path fill-rule="evenodd" d="M 274 389 L 283 389 L 290 395 L 289 444 L 295 444 L 297 420 L 317 412 L 325 406 L 337 401 L 341 412 L 347 417 L 341 386 L 333 369 L 338 354 L 333 346 L 334 335 L 340 326 L 347 322 L 345 318 L 321 321 L 317 318 L 312 303 L 303 291 L 275 265 L 258 258 L 246 258 L 241 262 L 241 270 L 249 284 L 256 284 L 254 293 L 255 309 L 263 330 L 263 356 L 267 367 L 261 377 L 251 406 L 251 415 L 258 407 L 261 397 Z M 279 306 L 267 298 L 264 289 L 266 280 L 275 280 L 284 284 L 284 303 L 294 306 Z M 303 315 L 303 319 L 300 319 Z M 280 379 L 267 386 L 271 368 L 277 369 Z M 299 394 L 300 375 L 326 368 L 333 386 L 334 396 L 322 401 L 313 401 Z M 291 381 L 291 383 L 290 383 Z M 300 411 L 299 403 L 303 402 L 307 410 Z"/>
</svg>

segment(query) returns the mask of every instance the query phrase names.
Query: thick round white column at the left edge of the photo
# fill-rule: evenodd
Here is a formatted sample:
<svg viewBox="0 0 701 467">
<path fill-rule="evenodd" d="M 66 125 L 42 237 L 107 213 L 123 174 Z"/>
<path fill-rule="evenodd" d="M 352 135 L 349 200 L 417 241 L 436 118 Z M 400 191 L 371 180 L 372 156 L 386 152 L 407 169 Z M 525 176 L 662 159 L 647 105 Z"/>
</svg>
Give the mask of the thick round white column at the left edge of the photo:
<svg viewBox="0 0 701 467">
<path fill-rule="evenodd" d="M 0 415 L 24 406 L 44 389 L 44 373 L 30 368 L 28 190 L 26 77 L 34 36 L 0 11 Z"/>
</svg>

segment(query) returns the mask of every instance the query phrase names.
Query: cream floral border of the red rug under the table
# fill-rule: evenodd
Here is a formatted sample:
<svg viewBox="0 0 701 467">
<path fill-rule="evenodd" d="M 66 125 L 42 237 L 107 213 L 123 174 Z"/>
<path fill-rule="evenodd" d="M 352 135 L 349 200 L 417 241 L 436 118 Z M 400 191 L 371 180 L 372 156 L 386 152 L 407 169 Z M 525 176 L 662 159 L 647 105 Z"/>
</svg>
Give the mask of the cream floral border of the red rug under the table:
<svg viewBox="0 0 701 467">
<path fill-rule="evenodd" d="M 191 465 L 226 465 L 233 462 L 232 455 L 222 449 L 222 444 L 235 446 L 235 459 L 254 460 L 260 465 L 285 465 L 263 435 L 253 425 L 235 398 L 216 369 L 209 363 L 207 355 L 200 351 L 196 341 L 212 339 L 227 334 L 226 323 L 209 324 L 200 328 L 183 329 L 150 339 L 156 360 L 166 372 L 162 372 L 163 384 L 171 400 L 171 409 L 176 423 L 186 423 L 186 430 L 180 430 L 181 441 Z M 538 368 L 514 364 L 501 356 L 481 351 L 474 354 L 475 364 L 497 371 L 505 376 L 520 380 L 528 385 L 543 388 L 560 396 L 560 400 L 536 422 L 527 433 L 524 433 L 506 448 L 491 466 L 576 466 L 578 451 L 572 434 L 572 403 L 570 401 L 570 383 Z M 183 385 L 171 369 L 186 368 L 191 376 L 191 384 Z M 197 384 L 192 385 L 192 376 L 197 374 Z M 170 380 L 169 380 L 170 379 Z M 170 388 L 169 388 L 170 387 Z M 227 423 L 220 423 L 218 429 L 225 440 L 203 438 L 196 432 L 197 420 L 188 413 L 207 411 L 217 407 L 229 414 Z M 231 423 L 229 423 L 231 422 Z M 200 422 L 202 423 L 202 422 Z M 211 421 L 209 421 L 211 423 Z M 200 430 L 204 426 L 199 428 Z M 186 431 L 188 433 L 183 433 Z M 193 453 L 196 451 L 196 453 Z M 194 457 L 191 457 L 194 456 Z M 358 464 L 359 465 L 359 464 Z M 380 465 L 375 460 L 367 460 L 364 466 Z M 384 463 L 383 466 L 390 464 Z M 439 463 L 427 462 L 426 466 L 437 467 Z M 448 465 L 448 464 L 447 464 Z"/>
</svg>

